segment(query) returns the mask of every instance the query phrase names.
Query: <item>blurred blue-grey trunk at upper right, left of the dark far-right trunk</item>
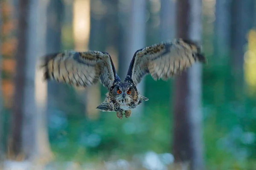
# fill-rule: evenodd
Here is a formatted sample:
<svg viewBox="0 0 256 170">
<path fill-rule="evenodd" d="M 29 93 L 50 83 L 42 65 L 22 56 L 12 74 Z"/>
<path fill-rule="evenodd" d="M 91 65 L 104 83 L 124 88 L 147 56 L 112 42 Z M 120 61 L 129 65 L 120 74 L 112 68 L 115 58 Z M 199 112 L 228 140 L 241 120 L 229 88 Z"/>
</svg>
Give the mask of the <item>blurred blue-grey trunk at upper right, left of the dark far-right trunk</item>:
<svg viewBox="0 0 256 170">
<path fill-rule="evenodd" d="M 215 5 L 215 57 L 230 56 L 231 0 L 216 0 Z"/>
</svg>

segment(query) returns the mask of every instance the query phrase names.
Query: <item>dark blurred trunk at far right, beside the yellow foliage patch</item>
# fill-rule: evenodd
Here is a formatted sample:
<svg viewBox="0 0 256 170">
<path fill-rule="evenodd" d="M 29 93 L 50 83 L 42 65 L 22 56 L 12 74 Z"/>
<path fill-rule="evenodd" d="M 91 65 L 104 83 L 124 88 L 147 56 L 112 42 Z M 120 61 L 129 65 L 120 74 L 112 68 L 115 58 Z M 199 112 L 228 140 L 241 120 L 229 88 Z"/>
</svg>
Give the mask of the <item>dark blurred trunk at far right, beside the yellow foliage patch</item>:
<svg viewBox="0 0 256 170">
<path fill-rule="evenodd" d="M 247 34 L 253 28 L 255 0 L 233 0 L 231 3 L 231 74 L 232 100 L 244 97 L 244 53 L 247 50 Z"/>
</svg>

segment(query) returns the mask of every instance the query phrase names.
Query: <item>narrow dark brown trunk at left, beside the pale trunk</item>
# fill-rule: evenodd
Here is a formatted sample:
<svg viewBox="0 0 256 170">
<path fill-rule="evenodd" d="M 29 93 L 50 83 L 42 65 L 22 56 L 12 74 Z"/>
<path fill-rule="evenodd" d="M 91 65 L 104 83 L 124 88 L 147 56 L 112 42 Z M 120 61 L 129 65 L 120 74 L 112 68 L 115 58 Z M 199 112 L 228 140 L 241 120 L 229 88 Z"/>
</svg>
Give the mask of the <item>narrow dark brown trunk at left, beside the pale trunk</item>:
<svg viewBox="0 0 256 170">
<path fill-rule="evenodd" d="M 22 152 L 22 126 L 24 115 L 25 81 L 26 81 L 26 55 L 27 55 L 27 33 L 29 17 L 29 0 L 19 0 L 18 23 L 17 23 L 17 51 L 15 94 L 13 100 L 12 117 L 12 150 L 15 156 Z"/>
</svg>

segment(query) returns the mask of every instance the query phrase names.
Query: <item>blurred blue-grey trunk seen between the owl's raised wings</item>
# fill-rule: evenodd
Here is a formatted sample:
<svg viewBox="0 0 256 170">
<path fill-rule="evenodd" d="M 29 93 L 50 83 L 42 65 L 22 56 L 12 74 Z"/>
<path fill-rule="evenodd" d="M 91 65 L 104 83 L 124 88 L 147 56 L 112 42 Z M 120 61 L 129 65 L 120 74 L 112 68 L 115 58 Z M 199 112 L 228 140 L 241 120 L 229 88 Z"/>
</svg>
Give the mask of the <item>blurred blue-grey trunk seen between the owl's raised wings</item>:
<svg viewBox="0 0 256 170">
<path fill-rule="evenodd" d="M 146 1 L 131 0 L 119 1 L 119 77 L 124 80 L 134 53 L 145 47 L 145 26 L 146 26 Z M 137 85 L 140 94 L 144 95 L 143 79 Z M 134 111 L 140 113 L 144 103 L 140 104 Z"/>
</svg>

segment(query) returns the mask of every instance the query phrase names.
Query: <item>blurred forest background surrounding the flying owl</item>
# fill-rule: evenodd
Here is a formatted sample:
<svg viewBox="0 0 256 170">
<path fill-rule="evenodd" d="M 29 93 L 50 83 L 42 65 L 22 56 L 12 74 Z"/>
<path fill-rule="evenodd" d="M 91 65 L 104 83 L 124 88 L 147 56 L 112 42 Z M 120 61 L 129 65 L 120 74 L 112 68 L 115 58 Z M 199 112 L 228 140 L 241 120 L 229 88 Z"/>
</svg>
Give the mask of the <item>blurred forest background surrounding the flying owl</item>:
<svg viewBox="0 0 256 170">
<path fill-rule="evenodd" d="M 256 0 L 1 0 L 0 166 L 12 170 L 256 170 Z M 107 92 L 42 81 L 38 59 L 111 54 L 121 79 L 136 50 L 199 42 L 207 65 L 140 83 L 120 120 Z M 186 168 L 186 166 L 188 168 Z"/>
</svg>

